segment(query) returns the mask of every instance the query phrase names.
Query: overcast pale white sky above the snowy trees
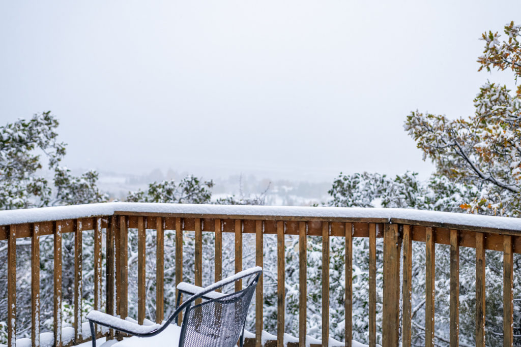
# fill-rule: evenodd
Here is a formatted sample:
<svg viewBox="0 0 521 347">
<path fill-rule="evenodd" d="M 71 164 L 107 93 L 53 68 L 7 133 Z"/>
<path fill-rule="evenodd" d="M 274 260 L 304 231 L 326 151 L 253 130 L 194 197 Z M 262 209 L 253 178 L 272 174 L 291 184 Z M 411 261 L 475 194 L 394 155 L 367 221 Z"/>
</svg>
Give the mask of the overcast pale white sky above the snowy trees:
<svg viewBox="0 0 521 347">
<path fill-rule="evenodd" d="M 517 17 L 515 16 L 517 14 Z M 332 181 L 432 165 L 411 110 L 473 113 L 519 1 L 4 1 L 0 124 L 51 110 L 70 168 Z"/>
</svg>

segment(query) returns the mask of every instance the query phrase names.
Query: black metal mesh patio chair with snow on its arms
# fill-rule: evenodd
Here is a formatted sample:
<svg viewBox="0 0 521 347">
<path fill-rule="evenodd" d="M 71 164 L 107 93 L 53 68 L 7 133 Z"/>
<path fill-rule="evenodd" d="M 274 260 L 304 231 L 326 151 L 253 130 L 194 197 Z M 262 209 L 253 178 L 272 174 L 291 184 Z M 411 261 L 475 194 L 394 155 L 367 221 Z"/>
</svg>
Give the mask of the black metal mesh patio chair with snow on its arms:
<svg viewBox="0 0 521 347">
<path fill-rule="evenodd" d="M 240 341 L 240 346 L 242 347 L 248 307 L 261 275 L 262 267 L 257 266 L 222 279 L 206 288 L 196 287 L 183 282 L 180 283 L 178 285 L 179 294 L 176 310 L 162 325 L 139 325 L 100 311 L 91 311 L 86 318 L 89 319 L 91 328 L 92 346 L 96 347 L 94 324 L 137 337 L 153 337 L 170 325 L 175 325 L 177 328 L 177 318 L 184 310 L 183 322 L 178 335 L 179 340 L 168 341 L 168 346 L 233 347 L 237 345 L 237 341 Z M 215 291 L 246 277 L 253 277 L 253 279 L 242 290 L 230 294 L 222 294 Z M 181 293 L 191 294 L 191 297 L 179 305 Z M 196 303 L 196 299 L 204 299 L 204 301 Z M 154 347 L 160 346 L 156 345 Z"/>
</svg>

